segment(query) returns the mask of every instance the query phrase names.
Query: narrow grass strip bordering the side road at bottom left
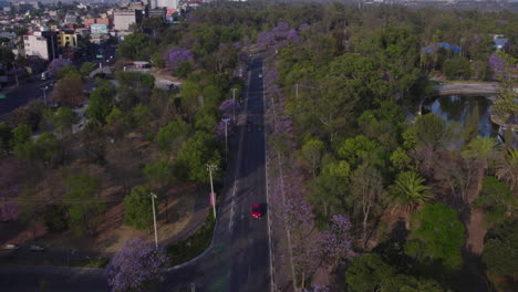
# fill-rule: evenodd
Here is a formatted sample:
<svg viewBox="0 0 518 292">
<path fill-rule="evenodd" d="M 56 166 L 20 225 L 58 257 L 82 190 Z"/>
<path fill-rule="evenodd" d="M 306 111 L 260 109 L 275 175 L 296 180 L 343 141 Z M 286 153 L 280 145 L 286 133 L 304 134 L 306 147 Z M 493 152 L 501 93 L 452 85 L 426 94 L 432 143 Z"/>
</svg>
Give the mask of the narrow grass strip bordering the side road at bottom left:
<svg viewBox="0 0 518 292">
<path fill-rule="evenodd" d="M 104 268 L 108 259 L 84 259 L 84 260 L 63 260 L 63 259 L 20 259 L 2 258 L 0 264 L 22 264 L 22 265 L 53 265 L 53 267 L 75 267 L 75 268 Z"/>
</svg>

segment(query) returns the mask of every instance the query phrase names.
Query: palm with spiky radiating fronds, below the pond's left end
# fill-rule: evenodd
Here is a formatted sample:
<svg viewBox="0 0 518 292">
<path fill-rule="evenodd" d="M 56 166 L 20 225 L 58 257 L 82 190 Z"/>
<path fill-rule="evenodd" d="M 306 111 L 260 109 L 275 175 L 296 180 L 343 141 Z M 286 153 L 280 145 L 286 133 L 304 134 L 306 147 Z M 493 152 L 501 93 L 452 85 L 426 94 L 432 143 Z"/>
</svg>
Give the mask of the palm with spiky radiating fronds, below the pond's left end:
<svg viewBox="0 0 518 292">
<path fill-rule="evenodd" d="M 394 209 L 405 212 L 414 210 L 418 205 L 425 204 L 433 198 L 429 187 L 416 171 L 404 171 L 397 175 L 393 186 L 390 187 L 394 198 Z"/>
</svg>

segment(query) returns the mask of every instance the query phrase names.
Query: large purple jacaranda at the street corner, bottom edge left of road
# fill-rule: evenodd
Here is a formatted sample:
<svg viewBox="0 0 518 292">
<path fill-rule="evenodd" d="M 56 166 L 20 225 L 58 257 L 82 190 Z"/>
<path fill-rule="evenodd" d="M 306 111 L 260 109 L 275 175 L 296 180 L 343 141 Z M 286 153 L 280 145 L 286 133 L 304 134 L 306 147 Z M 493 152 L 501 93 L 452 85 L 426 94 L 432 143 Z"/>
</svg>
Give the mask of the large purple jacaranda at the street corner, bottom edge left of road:
<svg viewBox="0 0 518 292">
<path fill-rule="evenodd" d="M 108 284 L 114 292 L 147 291 L 151 283 L 160 280 L 160 269 L 168 262 L 165 250 L 155 249 L 143 238 L 127 240 L 107 268 Z"/>
</svg>

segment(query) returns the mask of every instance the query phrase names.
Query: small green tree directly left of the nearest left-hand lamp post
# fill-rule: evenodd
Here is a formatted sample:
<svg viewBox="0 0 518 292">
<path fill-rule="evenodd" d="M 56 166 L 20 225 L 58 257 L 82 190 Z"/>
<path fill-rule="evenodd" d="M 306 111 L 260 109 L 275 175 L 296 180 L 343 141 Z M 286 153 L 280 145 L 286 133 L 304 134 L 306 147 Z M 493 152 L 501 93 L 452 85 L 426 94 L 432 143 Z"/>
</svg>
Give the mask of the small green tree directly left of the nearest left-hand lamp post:
<svg viewBox="0 0 518 292">
<path fill-rule="evenodd" d="M 137 230 L 153 227 L 151 192 L 147 186 L 136 186 L 128 196 L 124 197 L 124 225 Z"/>
</svg>

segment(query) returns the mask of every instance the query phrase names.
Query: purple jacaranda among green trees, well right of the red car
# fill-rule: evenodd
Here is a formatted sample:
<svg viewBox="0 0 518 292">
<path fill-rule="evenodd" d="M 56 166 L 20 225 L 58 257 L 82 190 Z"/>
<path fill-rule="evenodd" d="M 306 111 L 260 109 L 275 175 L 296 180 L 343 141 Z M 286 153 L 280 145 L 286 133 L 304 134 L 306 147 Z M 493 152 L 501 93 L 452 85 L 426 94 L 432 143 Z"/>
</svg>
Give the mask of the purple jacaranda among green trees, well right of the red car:
<svg viewBox="0 0 518 292">
<path fill-rule="evenodd" d="M 334 215 L 331 227 L 319 236 L 319 251 L 321 255 L 333 261 L 336 265 L 341 259 L 353 255 L 351 221 L 346 216 Z"/>
</svg>

